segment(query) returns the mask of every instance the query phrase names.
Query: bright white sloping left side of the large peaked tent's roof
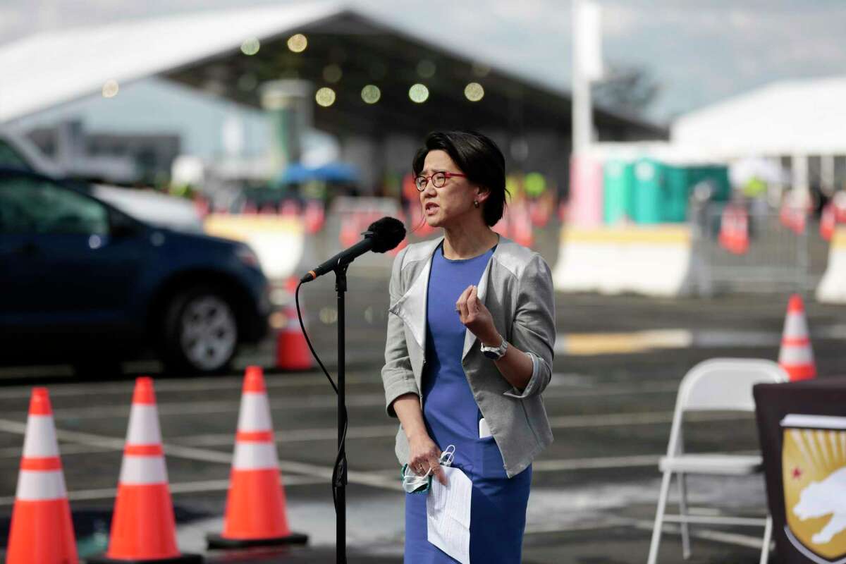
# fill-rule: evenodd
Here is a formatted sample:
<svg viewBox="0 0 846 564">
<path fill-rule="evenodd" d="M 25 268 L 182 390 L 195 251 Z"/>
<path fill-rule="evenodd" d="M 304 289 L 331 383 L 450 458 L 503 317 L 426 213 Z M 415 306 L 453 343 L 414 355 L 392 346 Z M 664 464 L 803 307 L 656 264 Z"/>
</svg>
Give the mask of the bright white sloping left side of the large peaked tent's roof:
<svg viewBox="0 0 846 564">
<path fill-rule="evenodd" d="M 0 49 L 0 123 L 222 53 L 343 12 L 338 3 L 177 14 L 49 31 Z"/>
</svg>

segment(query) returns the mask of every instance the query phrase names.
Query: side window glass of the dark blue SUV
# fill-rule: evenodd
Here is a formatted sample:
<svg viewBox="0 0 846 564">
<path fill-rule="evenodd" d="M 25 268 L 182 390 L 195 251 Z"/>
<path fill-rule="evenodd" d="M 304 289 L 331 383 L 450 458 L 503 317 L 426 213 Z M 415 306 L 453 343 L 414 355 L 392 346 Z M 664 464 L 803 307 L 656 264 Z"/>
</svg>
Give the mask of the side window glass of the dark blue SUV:
<svg viewBox="0 0 846 564">
<path fill-rule="evenodd" d="M 42 178 L 0 177 L 0 233 L 108 233 L 108 210 Z"/>
</svg>

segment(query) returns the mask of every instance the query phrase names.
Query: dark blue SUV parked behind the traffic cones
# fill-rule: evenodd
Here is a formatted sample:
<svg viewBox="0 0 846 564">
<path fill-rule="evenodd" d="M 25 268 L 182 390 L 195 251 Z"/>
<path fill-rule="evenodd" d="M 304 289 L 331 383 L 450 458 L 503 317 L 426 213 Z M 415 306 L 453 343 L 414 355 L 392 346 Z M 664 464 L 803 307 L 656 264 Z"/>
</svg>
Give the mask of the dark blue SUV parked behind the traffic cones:
<svg viewBox="0 0 846 564">
<path fill-rule="evenodd" d="M 267 330 L 246 245 L 154 227 L 85 190 L 0 168 L 0 362 L 117 364 L 149 350 L 173 370 L 226 370 Z"/>
</svg>

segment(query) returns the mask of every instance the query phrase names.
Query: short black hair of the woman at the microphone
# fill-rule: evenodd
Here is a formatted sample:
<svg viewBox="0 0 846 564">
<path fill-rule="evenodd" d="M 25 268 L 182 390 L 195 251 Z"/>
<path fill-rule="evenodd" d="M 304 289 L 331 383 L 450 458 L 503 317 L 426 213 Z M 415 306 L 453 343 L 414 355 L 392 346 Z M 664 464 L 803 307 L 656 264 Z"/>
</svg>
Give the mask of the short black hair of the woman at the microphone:
<svg viewBox="0 0 846 564">
<path fill-rule="evenodd" d="M 423 170 L 429 151 L 445 151 L 467 180 L 491 191 L 482 204 L 482 216 L 488 226 L 503 217 L 505 209 L 505 157 L 497 144 L 477 131 L 432 131 L 417 151 L 412 168 L 415 176 Z"/>
</svg>

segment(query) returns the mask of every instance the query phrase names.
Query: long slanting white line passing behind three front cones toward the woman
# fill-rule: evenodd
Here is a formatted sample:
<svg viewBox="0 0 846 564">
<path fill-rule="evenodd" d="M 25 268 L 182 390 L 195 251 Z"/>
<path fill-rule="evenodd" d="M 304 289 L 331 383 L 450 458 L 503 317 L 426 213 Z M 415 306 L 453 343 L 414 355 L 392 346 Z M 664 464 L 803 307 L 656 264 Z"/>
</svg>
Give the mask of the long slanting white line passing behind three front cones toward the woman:
<svg viewBox="0 0 846 564">
<path fill-rule="evenodd" d="M 8 419 L 0 419 L 0 430 L 17 435 L 26 434 L 26 424 Z M 56 438 L 60 441 L 75 442 L 91 446 L 109 446 L 117 451 L 124 450 L 124 439 L 118 439 L 107 435 L 95 435 L 80 431 L 56 430 Z M 185 458 L 188 460 L 199 460 L 206 463 L 232 464 L 232 455 L 228 452 L 211 451 L 191 446 L 178 446 L 173 444 L 164 445 L 165 456 Z M 307 476 L 332 479 L 331 466 L 319 466 L 311 463 L 300 463 L 294 460 L 280 460 L 279 469 L 283 472 L 294 474 L 305 474 Z M 347 472 L 349 482 L 360 485 L 370 485 L 385 490 L 402 490 L 398 479 L 389 479 L 372 472 L 361 472 L 349 470 Z"/>
</svg>

